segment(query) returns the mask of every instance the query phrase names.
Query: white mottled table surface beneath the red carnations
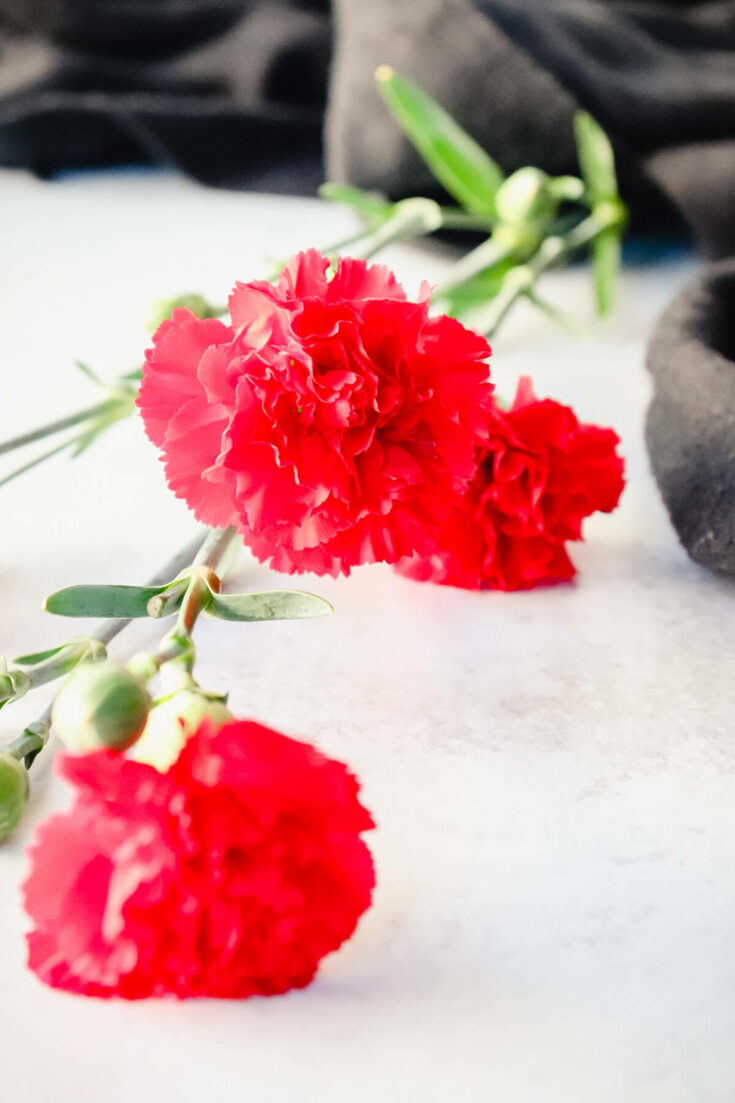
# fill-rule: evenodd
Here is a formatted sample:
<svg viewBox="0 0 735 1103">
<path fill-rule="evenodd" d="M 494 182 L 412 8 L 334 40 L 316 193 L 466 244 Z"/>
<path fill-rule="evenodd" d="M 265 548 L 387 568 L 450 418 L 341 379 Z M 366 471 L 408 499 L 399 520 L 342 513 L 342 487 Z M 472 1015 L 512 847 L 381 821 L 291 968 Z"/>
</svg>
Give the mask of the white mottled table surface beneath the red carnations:
<svg viewBox="0 0 735 1103">
<path fill-rule="evenodd" d="M 134 366 L 151 300 L 220 299 L 264 255 L 327 244 L 350 216 L 167 176 L 0 176 L 0 439 L 94 401 L 71 366 Z M 438 254 L 388 255 L 409 291 Z M 546 287 L 572 338 L 519 313 L 494 374 L 615 426 L 629 485 L 588 525 L 577 585 L 466 593 L 363 568 L 307 586 L 318 622 L 198 630 L 201 674 L 234 709 L 359 772 L 379 889 L 308 989 L 276 999 L 102 1003 L 24 967 L 18 886 L 34 821 L 66 790 L 34 769 L 0 850 L 3 1100 L 167 1103 L 715 1103 L 735 1097 L 735 591 L 691 564 L 642 441 L 643 350 L 691 272 L 626 272 L 590 321 L 580 269 Z M 192 532 L 140 427 L 0 497 L 0 650 L 76 630 L 40 610 L 79 581 L 141 581 Z M 234 582 L 283 583 L 243 557 Z M 292 580 L 289 580 L 292 585 Z M 287 583 L 288 585 L 288 583 Z M 120 654 L 152 644 L 141 624 Z M 42 694 L 0 714 L 11 738 Z"/>
</svg>

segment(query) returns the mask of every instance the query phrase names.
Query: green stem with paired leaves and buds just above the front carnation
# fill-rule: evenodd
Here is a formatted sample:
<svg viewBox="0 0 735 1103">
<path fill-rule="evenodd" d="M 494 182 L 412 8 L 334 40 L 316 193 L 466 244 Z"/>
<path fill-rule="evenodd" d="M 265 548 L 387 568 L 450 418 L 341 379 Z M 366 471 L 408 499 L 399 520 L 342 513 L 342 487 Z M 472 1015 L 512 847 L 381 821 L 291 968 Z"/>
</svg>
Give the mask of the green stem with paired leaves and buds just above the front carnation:
<svg viewBox="0 0 735 1103">
<path fill-rule="evenodd" d="M 301 619 L 332 612 L 328 601 L 297 590 L 220 595 L 228 555 L 237 543 L 238 535 L 232 527 L 210 529 L 204 540 L 199 536 L 195 542 L 187 544 L 146 587 L 70 587 L 47 599 L 46 608 L 62 615 L 102 614 L 107 603 L 113 617 L 100 625 L 93 638 L 72 641 L 47 652 L 22 655 L 11 668 L 3 663 L 0 670 L 0 707 L 19 700 L 36 686 L 68 677 L 52 707 L 0 751 L 0 840 L 18 823 L 28 797 L 25 784 L 25 797 L 19 802 L 19 773 L 12 762 L 21 763 L 25 771 L 30 769 L 49 739 L 52 720 L 64 741 L 75 750 L 127 746 L 125 740 L 131 735 L 135 738 L 145 737 L 149 713 L 151 718 L 156 717 L 157 703 L 150 702 L 145 685 L 159 673 L 164 675 L 162 685 L 166 694 L 162 700 L 185 690 L 190 711 L 191 698 L 194 698 L 193 711 L 198 719 L 209 711 L 222 718 L 222 714 L 226 713 L 223 698 L 201 689 L 191 676 L 195 660 L 192 632 L 201 613 L 209 612 L 221 620 L 256 621 Z M 170 596 L 173 600 L 168 600 Z M 129 615 L 118 615 L 121 611 L 129 612 Z M 159 619 L 173 613 L 177 613 L 174 628 L 163 636 L 155 654 L 135 655 L 127 667 L 107 660 L 107 644 L 134 618 Z M 170 670 L 166 671 L 166 667 Z M 119 704 L 120 700 L 130 702 L 131 694 L 135 695 L 135 730 L 130 727 L 130 716 L 126 717 L 125 708 Z M 115 715 L 113 722 L 110 709 L 121 714 Z M 171 730 L 175 738 L 183 739 L 181 726 L 169 729 L 167 738 Z M 159 761 L 164 751 L 169 753 L 169 748 L 162 750 L 150 735 L 142 742 L 146 752 Z M 8 781 L 7 807 L 3 807 L 3 777 Z"/>
</svg>

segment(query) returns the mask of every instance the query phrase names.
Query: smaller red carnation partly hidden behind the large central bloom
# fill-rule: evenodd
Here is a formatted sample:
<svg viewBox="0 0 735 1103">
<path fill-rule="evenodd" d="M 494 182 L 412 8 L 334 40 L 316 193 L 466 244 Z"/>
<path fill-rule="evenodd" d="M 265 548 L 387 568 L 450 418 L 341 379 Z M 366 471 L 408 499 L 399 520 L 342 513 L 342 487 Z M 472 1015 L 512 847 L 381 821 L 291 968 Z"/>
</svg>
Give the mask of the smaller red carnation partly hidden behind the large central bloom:
<svg viewBox="0 0 735 1103">
<path fill-rule="evenodd" d="M 512 408 L 496 406 L 490 439 L 437 547 L 398 570 L 468 590 L 521 590 L 574 577 L 566 540 L 590 513 L 609 513 L 625 484 L 611 429 L 579 425 L 568 406 L 540 400 L 529 378 Z"/>
</svg>

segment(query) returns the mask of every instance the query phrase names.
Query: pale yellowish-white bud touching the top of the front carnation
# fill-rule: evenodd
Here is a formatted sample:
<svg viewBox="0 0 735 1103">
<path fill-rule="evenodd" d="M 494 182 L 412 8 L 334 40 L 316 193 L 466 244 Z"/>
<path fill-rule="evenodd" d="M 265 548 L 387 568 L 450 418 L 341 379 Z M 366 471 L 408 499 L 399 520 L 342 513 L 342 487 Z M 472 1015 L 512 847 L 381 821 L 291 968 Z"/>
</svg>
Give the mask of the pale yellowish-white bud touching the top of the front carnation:
<svg viewBox="0 0 735 1103">
<path fill-rule="evenodd" d="M 204 719 L 221 727 L 233 715 L 220 697 L 201 689 L 180 689 L 150 710 L 146 730 L 132 748 L 131 757 L 157 770 L 168 770 Z"/>
</svg>

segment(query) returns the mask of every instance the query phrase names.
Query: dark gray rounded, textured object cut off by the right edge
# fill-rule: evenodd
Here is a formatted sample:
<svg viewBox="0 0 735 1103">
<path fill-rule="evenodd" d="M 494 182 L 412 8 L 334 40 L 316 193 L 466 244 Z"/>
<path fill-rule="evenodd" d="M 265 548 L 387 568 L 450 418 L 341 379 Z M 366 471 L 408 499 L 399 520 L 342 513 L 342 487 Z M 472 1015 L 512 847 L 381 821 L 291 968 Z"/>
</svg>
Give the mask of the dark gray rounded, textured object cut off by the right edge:
<svg viewBox="0 0 735 1103">
<path fill-rule="evenodd" d="M 671 303 L 648 367 L 646 441 L 672 524 L 692 559 L 735 575 L 735 260 Z"/>
</svg>

